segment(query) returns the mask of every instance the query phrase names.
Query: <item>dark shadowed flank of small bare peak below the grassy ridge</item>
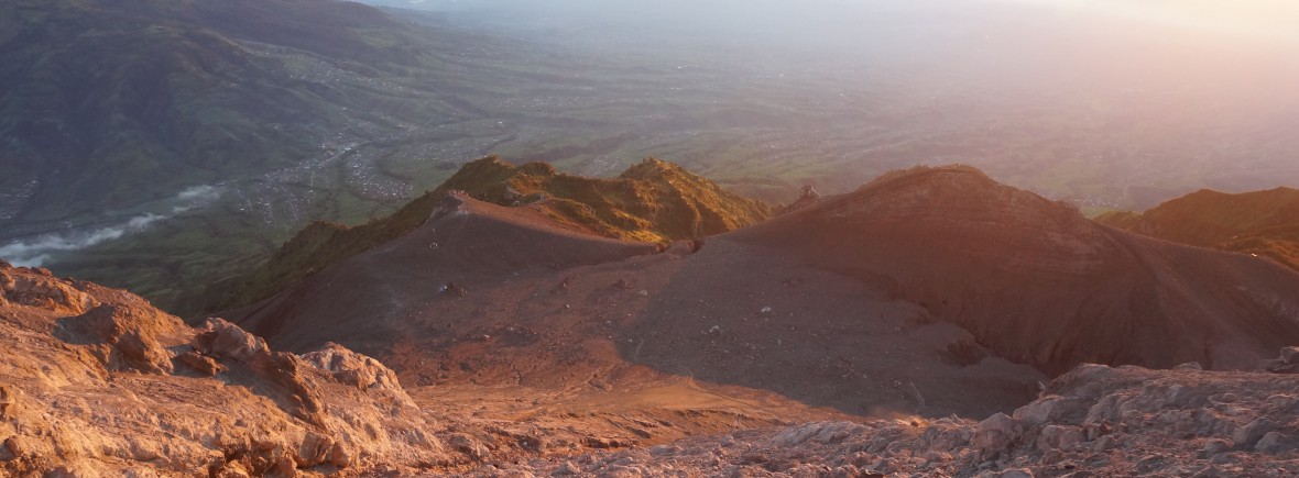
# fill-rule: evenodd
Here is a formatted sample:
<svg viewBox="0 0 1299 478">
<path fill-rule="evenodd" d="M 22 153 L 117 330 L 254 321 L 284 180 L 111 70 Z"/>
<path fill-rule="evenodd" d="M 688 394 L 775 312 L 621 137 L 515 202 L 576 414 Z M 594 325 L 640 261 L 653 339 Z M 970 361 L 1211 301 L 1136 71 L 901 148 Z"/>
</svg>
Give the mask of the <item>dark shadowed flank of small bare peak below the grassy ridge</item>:
<svg viewBox="0 0 1299 478">
<path fill-rule="evenodd" d="M 559 228 L 533 207 L 447 194 L 423 225 L 249 308 L 239 321 L 292 350 L 310 348 L 322 337 L 383 350 L 400 342 L 412 310 L 461 295 L 466 286 L 548 276 L 655 250 L 652 244 Z"/>
</svg>

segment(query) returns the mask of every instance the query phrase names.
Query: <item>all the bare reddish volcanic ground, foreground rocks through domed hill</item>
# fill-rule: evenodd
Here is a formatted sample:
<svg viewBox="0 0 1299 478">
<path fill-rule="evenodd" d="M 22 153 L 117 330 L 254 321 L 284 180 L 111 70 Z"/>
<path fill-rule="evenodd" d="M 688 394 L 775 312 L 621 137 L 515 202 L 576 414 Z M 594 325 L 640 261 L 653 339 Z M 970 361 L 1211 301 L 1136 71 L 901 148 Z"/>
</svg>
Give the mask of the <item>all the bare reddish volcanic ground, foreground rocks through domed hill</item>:
<svg viewBox="0 0 1299 478">
<path fill-rule="evenodd" d="M 977 170 L 668 246 L 426 219 L 238 324 L 0 262 L 0 474 L 1299 472 L 1299 275 Z"/>
</svg>

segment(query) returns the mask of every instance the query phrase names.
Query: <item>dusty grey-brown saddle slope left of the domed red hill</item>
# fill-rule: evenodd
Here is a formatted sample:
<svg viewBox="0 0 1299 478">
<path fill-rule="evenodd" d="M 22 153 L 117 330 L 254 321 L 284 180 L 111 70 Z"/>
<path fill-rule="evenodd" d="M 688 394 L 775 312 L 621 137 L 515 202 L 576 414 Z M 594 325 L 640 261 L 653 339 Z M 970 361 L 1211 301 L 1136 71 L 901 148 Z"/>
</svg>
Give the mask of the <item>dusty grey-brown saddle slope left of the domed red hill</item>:
<svg viewBox="0 0 1299 478">
<path fill-rule="evenodd" d="M 726 234 L 660 250 L 559 228 L 539 205 L 448 196 L 412 233 L 227 316 L 275 347 L 374 354 L 414 385 L 599 391 L 672 374 L 852 413 L 978 415 L 1043 378 L 781 251 Z"/>
</svg>

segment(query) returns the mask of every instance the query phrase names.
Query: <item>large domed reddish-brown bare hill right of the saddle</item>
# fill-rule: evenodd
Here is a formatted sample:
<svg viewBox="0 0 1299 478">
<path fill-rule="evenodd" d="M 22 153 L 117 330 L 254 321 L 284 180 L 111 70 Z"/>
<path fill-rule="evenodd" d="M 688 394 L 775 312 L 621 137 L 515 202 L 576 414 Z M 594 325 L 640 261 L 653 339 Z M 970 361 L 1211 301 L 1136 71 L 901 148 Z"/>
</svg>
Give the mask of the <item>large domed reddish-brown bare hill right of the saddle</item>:
<svg viewBox="0 0 1299 478">
<path fill-rule="evenodd" d="M 1096 225 L 960 167 L 877 180 L 735 234 L 859 277 L 1050 373 L 1251 368 L 1299 343 L 1299 275 Z"/>
</svg>

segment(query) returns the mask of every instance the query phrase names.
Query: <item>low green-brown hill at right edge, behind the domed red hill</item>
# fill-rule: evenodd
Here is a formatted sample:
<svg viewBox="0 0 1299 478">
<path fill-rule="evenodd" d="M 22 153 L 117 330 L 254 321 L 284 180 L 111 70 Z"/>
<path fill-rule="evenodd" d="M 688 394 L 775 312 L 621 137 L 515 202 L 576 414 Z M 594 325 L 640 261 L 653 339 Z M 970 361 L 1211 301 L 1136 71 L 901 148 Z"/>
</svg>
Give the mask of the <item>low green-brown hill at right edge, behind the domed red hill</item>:
<svg viewBox="0 0 1299 478">
<path fill-rule="evenodd" d="M 1229 194 L 1202 189 L 1143 212 L 1096 222 L 1168 241 L 1270 258 L 1299 269 L 1299 190 Z"/>
</svg>

